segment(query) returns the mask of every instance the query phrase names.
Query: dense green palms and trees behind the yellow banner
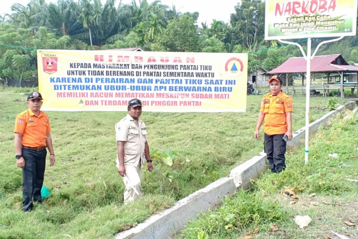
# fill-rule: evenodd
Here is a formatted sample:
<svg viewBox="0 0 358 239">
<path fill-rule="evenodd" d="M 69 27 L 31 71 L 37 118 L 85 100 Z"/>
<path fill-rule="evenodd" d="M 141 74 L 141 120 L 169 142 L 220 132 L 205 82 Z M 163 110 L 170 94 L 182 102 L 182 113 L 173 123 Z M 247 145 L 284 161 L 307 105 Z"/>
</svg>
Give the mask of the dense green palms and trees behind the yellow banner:
<svg viewBox="0 0 358 239">
<path fill-rule="evenodd" d="M 249 54 L 249 72 L 267 70 L 291 56 L 294 46 L 282 47 L 264 40 L 265 3 L 242 0 L 233 6 L 230 22 L 213 19 L 197 23 L 198 12 L 180 13 L 175 6 L 156 0 L 116 5 L 116 0 L 29 0 L 14 3 L 12 13 L 0 16 L 0 78 L 36 80 L 37 59 L 33 49 L 113 49 L 140 47 L 144 51 L 234 52 Z M 313 46 L 321 40 L 314 39 Z M 305 43 L 301 43 L 305 45 Z M 14 48 L 4 45 L 16 46 Z M 346 37 L 321 47 L 318 55 L 342 54 L 358 62 L 358 38 Z M 21 48 L 22 47 L 22 48 Z M 268 49 L 269 48 L 269 49 Z M 20 84 L 19 83 L 19 84 Z"/>
</svg>

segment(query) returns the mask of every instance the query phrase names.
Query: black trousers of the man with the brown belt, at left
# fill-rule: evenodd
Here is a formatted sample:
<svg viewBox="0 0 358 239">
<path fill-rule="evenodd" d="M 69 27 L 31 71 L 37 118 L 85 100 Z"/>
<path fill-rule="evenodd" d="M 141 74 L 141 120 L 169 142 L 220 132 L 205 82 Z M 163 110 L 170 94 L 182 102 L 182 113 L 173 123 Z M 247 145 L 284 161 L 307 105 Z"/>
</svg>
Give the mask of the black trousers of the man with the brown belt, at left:
<svg viewBox="0 0 358 239">
<path fill-rule="evenodd" d="M 23 168 L 23 210 L 31 211 L 32 200 L 41 203 L 41 188 L 44 181 L 47 150 L 22 149 L 25 159 Z"/>
</svg>

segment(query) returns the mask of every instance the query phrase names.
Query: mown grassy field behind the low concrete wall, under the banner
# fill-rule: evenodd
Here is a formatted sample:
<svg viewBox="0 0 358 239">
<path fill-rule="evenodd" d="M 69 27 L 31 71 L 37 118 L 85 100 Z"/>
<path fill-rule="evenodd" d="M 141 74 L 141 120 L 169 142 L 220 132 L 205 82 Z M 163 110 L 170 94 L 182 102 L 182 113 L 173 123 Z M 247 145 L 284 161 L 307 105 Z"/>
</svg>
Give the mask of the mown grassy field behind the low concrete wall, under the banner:
<svg viewBox="0 0 358 239">
<path fill-rule="evenodd" d="M 255 140 L 262 96 L 247 97 L 246 113 L 142 113 L 149 147 L 177 151 L 171 166 L 173 185 L 158 169 L 144 174 L 144 197 L 123 205 L 124 185 L 115 167 L 114 125 L 118 112 L 48 111 L 56 162 L 45 172 L 51 196 L 31 213 L 21 212 L 21 169 L 14 158 L 15 115 L 27 109 L 32 89 L 0 90 L 0 237 L 112 238 L 148 216 L 172 205 L 218 178 L 263 149 Z M 25 94 L 21 94 L 25 93 Z M 338 99 L 339 103 L 348 101 Z M 327 98 L 311 98 L 310 120 L 327 111 Z M 305 97 L 294 98 L 293 129 L 305 123 Z M 154 167 L 158 166 L 154 161 Z"/>
</svg>

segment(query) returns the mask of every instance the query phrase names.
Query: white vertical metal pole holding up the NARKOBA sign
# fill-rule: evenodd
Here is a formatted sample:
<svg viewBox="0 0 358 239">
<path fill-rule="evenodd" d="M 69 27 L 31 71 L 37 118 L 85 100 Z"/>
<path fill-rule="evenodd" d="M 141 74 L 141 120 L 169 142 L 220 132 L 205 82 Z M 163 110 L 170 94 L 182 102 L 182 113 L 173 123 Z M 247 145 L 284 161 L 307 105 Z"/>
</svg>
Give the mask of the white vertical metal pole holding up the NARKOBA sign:
<svg viewBox="0 0 358 239">
<path fill-rule="evenodd" d="M 308 164 L 308 143 L 310 134 L 310 84 L 311 84 L 311 38 L 307 41 L 307 73 L 306 73 L 306 134 L 305 134 L 305 165 Z"/>
</svg>

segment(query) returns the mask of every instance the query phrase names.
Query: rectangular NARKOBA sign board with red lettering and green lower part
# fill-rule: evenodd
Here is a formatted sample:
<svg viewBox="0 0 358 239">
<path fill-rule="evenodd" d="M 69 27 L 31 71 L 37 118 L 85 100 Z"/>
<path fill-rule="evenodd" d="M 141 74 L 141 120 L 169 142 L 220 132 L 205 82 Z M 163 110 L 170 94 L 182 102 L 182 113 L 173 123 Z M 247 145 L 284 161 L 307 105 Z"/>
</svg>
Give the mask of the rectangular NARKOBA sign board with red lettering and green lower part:
<svg viewBox="0 0 358 239">
<path fill-rule="evenodd" d="M 357 0 L 266 0 L 265 39 L 355 35 Z"/>
</svg>

